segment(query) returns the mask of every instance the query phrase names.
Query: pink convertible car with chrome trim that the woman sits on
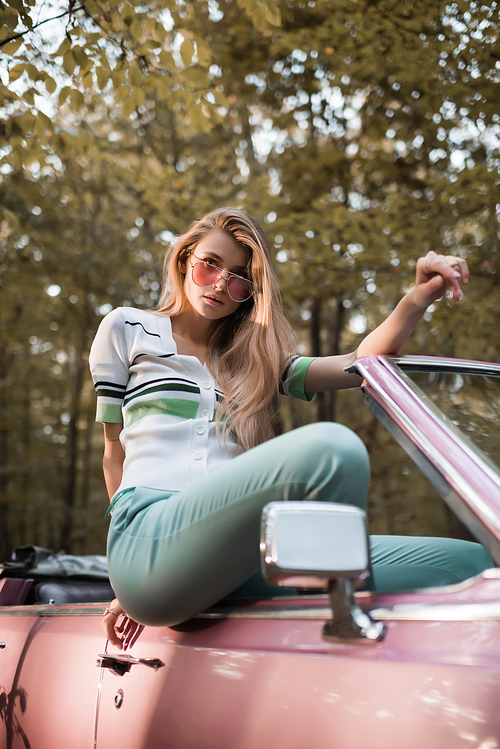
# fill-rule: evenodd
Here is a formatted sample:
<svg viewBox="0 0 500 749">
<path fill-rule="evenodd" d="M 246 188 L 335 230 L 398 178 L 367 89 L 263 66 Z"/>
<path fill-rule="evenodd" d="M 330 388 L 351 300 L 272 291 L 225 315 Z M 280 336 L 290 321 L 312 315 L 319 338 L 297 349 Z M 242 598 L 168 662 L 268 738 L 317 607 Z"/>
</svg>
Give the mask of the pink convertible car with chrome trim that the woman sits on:
<svg viewBox="0 0 500 749">
<path fill-rule="evenodd" d="M 500 563 L 500 365 L 353 368 L 366 405 Z M 228 598 L 174 628 L 124 620 L 121 651 L 99 626 L 105 579 L 92 592 L 71 565 L 59 580 L 31 562 L 4 570 L 0 749 L 499 747 L 499 569 L 360 591 L 363 513 L 309 502 L 268 505 L 261 555 L 281 595 Z"/>
</svg>

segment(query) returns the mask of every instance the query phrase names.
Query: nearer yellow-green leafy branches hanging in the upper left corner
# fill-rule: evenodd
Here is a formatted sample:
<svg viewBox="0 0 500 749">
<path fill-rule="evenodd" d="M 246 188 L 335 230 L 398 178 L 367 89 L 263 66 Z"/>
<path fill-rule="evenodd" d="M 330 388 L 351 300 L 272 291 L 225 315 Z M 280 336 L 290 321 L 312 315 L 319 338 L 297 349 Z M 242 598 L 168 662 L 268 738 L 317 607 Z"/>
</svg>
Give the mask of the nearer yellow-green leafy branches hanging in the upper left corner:
<svg viewBox="0 0 500 749">
<path fill-rule="evenodd" d="M 279 23 L 274 0 L 237 2 L 260 30 Z M 92 140 L 85 110 L 103 97 L 125 117 L 147 98 L 177 102 L 198 129 L 209 129 L 224 103 L 203 38 L 209 15 L 206 0 L 71 0 L 50 6 L 49 17 L 38 20 L 32 0 L 6 0 L 0 9 L 3 161 L 43 168 L 68 150 L 85 150 Z M 65 102 L 66 116 L 56 123 Z"/>
</svg>

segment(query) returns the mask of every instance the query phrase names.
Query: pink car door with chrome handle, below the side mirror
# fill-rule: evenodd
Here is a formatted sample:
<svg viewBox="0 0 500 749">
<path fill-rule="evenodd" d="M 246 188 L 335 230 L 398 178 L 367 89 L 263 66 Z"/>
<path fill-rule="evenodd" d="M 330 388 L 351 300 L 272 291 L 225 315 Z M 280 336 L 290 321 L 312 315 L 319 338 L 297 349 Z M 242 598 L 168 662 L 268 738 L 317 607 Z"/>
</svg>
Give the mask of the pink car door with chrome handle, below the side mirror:
<svg viewBox="0 0 500 749">
<path fill-rule="evenodd" d="M 103 669 L 97 747 L 497 746 L 499 594 L 498 576 L 358 594 L 387 625 L 369 645 L 324 637 L 326 596 L 232 602 L 146 628 L 125 656 L 162 663 Z"/>
</svg>

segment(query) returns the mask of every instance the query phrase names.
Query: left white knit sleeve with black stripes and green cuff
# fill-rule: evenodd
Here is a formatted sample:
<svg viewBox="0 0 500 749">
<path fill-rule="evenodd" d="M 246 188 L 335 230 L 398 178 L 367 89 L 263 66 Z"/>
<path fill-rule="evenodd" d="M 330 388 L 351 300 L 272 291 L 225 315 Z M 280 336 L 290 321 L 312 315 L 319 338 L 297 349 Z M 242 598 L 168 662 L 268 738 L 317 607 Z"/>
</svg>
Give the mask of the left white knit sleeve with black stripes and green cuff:
<svg viewBox="0 0 500 749">
<path fill-rule="evenodd" d="M 97 393 L 96 421 L 123 423 L 122 404 L 129 380 L 125 323 L 115 309 L 102 320 L 92 343 L 90 371 Z"/>
</svg>

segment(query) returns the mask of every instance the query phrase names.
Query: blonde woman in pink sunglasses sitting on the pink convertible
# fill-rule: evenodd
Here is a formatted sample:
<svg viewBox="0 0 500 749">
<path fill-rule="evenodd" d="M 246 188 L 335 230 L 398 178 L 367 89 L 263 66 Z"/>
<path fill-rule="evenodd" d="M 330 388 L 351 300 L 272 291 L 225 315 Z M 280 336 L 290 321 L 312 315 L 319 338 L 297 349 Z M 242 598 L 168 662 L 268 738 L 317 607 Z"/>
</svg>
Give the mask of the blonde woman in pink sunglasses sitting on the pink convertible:
<svg viewBox="0 0 500 749">
<path fill-rule="evenodd" d="M 165 269 L 158 309 L 111 312 L 90 356 L 118 596 L 103 627 L 118 647 L 124 611 L 143 624 L 174 625 L 247 580 L 258 568 L 268 502 L 366 506 L 369 464 L 358 437 L 322 423 L 270 440 L 274 396 L 310 400 L 359 386 L 346 367 L 366 354 L 397 354 L 425 309 L 447 288 L 458 301 L 469 280 L 465 260 L 429 252 L 417 262 L 415 286 L 356 352 L 307 358 L 294 355 L 266 236 L 245 212 L 222 208 L 195 221 Z M 402 553 L 381 538 L 374 556 L 399 579 L 392 563 L 406 554 L 421 586 L 491 565 L 477 544 L 440 542 L 407 539 Z"/>
</svg>

